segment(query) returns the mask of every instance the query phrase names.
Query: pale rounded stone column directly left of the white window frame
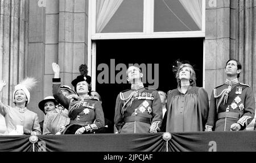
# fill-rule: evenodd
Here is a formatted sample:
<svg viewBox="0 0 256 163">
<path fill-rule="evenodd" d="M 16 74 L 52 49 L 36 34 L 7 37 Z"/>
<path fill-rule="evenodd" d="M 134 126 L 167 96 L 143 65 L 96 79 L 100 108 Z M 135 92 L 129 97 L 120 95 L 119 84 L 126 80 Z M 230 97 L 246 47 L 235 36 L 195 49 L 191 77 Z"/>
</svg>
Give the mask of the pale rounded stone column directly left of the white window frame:
<svg viewBox="0 0 256 163">
<path fill-rule="evenodd" d="M 64 85 L 79 75 L 87 62 L 88 1 L 60 0 L 59 65 Z"/>
</svg>

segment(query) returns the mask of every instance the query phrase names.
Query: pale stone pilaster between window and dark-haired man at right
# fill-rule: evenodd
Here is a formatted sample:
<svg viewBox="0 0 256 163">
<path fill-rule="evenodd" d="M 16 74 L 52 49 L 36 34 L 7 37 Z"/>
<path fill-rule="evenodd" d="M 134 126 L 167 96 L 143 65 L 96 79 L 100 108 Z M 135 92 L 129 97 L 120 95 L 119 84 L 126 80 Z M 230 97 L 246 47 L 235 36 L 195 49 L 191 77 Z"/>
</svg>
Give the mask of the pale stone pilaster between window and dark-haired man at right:
<svg viewBox="0 0 256 163">
<path fill-rule="evenodd" d="M 205 89 L 209 99 L 214 87 L 225 79 L 230 53 L 229 0 L 207 0 L 205 11 Z"/>
</svg>

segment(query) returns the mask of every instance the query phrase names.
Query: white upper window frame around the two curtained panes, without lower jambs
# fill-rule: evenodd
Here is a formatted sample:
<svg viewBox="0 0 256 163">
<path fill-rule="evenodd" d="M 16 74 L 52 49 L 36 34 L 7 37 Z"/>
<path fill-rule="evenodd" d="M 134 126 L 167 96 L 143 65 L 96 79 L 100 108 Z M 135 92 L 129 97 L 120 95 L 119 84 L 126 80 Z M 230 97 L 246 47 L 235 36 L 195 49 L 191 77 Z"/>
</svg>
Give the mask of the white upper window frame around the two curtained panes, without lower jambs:
<svg viewBox="0 0 256 163">
<path fill-rule="evenodd" d="M 91 10 L 91 39 L 152 39 L 152 38 L 176 38 L 176 37 L 205 37 L 205 1 L 202 0 L 202 30 L 201 31 L 174 31 L 154 32 L 154 1 L 143 0 L 143 32 L 113 32 L 96 33 L 96 1 L 89 0 Z M 90 15 L 89 14 L 89 15 Z"/>
</svg>

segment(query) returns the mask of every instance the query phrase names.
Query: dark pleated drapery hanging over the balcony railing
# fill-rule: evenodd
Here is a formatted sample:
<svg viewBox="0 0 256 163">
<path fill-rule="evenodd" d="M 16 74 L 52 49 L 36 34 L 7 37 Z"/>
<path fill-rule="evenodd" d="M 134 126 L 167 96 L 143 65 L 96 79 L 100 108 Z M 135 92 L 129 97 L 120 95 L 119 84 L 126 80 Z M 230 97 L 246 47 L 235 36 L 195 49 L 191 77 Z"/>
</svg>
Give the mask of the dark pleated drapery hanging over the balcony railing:
<svg viewBox="0 0 256 163">
<path fill-rule="evenodd" d="M 97 133 L 85 135 L 38 135 L 36 152 L 168 152 L 256 151 L 256 131 L 177 132 L 171 139 L 159 133 Z M 0 136 L 0 152 L 33 151 L 30 135 Z"/>
</svg>

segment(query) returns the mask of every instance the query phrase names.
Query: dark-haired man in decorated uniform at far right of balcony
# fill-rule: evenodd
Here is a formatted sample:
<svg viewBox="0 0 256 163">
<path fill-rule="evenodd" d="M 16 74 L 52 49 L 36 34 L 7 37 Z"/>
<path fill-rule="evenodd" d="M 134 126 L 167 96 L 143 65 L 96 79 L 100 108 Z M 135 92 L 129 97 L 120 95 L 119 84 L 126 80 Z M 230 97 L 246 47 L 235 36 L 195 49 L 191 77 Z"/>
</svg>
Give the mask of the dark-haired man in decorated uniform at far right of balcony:
<svg viewBox="0 0 256 163">
<path fill-rule="evenodd" d="M 226 62 L 226 82 L 213 89 L 206 131 L 239 131 L 254 118 L 255 99 L 250 86 L 240 83 L 240 62 Z"/>
</svg>

